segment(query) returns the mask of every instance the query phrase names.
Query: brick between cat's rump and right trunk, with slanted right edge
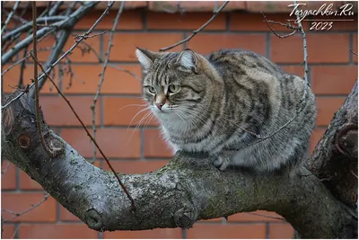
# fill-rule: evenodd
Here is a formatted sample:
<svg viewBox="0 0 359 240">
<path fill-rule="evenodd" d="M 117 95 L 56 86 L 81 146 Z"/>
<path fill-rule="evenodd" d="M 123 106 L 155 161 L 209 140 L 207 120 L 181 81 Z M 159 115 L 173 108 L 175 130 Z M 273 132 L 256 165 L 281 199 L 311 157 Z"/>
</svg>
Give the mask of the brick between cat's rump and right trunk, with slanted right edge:
<svg viewBox="0 0 359 240">
<path fill-rule="evenodd" d="M 344 97 L 317 97 L 317 125 L 328 126 L 334 113 L 343 105 L 345 99 Z"/>
</svg>

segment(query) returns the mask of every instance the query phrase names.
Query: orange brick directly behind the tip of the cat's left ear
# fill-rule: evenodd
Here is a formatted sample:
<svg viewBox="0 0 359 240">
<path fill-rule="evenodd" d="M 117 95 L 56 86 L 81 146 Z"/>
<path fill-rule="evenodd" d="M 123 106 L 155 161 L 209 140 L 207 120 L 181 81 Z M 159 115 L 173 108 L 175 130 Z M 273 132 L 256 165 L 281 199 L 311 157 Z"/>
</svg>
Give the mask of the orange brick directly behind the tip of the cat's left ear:
<svg viewBox="0 0 359 240">
<path fill-rule="evenodd" d="M 135 61 L 136 47 L 158 51 L 164 47 L 171 46 L 183 39 L 181 33 L 117 33 L 115 34 L 112 44 L 112 52 L 109 56 L 111 61 Z M 105 49 L 109 44 L 109 36 L 104 36 Z M 183 45 L 180 45 L 171 51 L 181 51 Z M 116 54 L 115 54 L 116 53 Z"/>
</svg>

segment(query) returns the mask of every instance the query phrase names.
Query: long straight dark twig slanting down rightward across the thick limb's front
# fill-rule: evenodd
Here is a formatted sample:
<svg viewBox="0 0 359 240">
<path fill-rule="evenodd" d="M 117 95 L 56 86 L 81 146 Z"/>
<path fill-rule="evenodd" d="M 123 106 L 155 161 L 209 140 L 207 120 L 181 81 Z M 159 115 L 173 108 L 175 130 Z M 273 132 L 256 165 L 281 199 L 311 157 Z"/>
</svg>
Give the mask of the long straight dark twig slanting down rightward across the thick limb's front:
<svg viewBox="0 0 359 240">
<path fill-rule="evenodd" d="M 41 70 L 45 73 L 45 75 L 48 77 L 48 80 L 50 80 L 50 82 L 52 84 L 54 84 L 55 88 L 57 89 L 57 93 L 59 93 L 64 100 L 66 101 L 67 105 L 70 107 L 70 109 L 74 112 L 74 116 L 77 118 L 77 120 L 79 120 L 79 122 L 81 123 L 81 125 L 83 126 L 83 129 L 86 131 L 87 136 L 89 136 L 89 138 L 91 138 L 93 144 L 97 147 L 97 149 L 99 149 L 99 152 L 101 153 L 101 156 L 103 156 L 103 158 L 106 160 L 107 164 L 109 164 L 109 168 L 111 169 L 111 171 L 114 173 L 115 177 L 118 180 L 119 185 L 121 186 L 121 188 L 123 189 L 123 191 L 125 191 L 127 198 L 131 201 L 131 208 L 133 211 L 136 210 L 135 207 L 135 200 L 131 197 L 131 195 L 129 194 L 129 192 L 127 191 L 126 186 L 121 182 L 121 180 L 118 177 L 118 174 L 116 173 L 115 169 L 112 167 L 112 165 L 109 163 L 109 158 L 107 158 L 107 156 L 105 156 L 105 154 L 102 152 L 101 147 L 97 144 L 96 140 L 92 137 L 91 133 L 89 132 L 89 130 L 86 128 L 86 126 L 83 124 L 83 120 L 80 119 L 80 117 L 77 115 L 76 111 L 74 111 L 74 107 L 71 105 L 70 101 L 66 98 L 66 96 L 61 92 L 60 89 L 58 89 L 57 84 L 55 84 L 54 80 L 52 80 L 51 76 L 48 75 L 47 71 L 45 71 L 45 69 L 41 66 L 41 64 L 39 63 L 38 59 L 34 58 L 34 56 L 32 56 L 33 60 L 36 61 L 39 65 L 39 67 L 41 68 Z"/>
</svg>

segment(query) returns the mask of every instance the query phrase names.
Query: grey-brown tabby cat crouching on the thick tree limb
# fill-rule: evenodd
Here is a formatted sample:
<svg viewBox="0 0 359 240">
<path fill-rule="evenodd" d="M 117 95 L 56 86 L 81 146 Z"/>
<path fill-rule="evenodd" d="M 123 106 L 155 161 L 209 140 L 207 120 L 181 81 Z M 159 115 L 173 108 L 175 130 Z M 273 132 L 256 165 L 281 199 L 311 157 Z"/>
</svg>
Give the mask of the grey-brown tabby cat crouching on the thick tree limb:
<svg viewBox="0 0 359 240">
<path fill-rule="evenodd" d="M 238 49 L 207 57 L 190 49 L 136 49 L 136 57 L 144 70 L 144 100 L 175 151 L 206 153 L 220 170 L 256 172 L 293 169 L 308 153 L 314 94 L 308 86 L 302 101 L 303 79 L 267 58 Z M 298 116 L 277 131 L 301 102 Z"/>
</svg>

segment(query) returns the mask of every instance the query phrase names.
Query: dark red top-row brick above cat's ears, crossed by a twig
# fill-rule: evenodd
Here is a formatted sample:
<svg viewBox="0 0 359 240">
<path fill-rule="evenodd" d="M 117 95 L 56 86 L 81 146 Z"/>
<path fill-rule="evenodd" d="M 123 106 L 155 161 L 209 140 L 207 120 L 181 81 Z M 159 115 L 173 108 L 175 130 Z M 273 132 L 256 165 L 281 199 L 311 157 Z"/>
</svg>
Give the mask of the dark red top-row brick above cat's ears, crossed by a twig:
<svg viewBox="0 0 359 240">
<path fill-rule="evenodd" d="M 153 30 L 196 30 L 206 23 L 213 13 L 147 13 L 147 29 Z M 165 21 L 163 21 L 165 19 Z M 220 13 L 209 23 L 206 30 L 225 30 L 225 14 Z"/>
</svg>

